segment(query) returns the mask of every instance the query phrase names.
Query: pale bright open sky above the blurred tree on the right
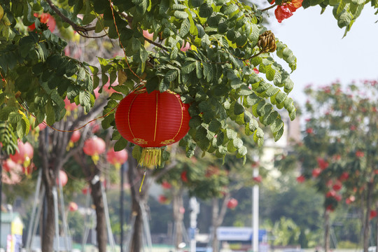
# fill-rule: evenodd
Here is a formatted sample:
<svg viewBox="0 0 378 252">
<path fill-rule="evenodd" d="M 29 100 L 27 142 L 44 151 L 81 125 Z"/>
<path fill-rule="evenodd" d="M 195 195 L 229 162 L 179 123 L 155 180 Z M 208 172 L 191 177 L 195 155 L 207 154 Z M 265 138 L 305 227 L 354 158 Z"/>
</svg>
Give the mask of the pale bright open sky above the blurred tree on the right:
<svg viewBox="0 0 378 252">
<path fill-rule="evenodd" d="M 300 8 L 279 24 L 274 9 L 269 10 L 270 29 L 297 57 L 297 69 L 290 74 L 294 82 L 290 97 L 301 105 L 306 102 L 302 92 L 306 85 L 378 79 L 378 15 L 370 3 L 344 38 L 332 8 L 320 12 L 319 6 Z M 290 72 L 285 62 L 281 64 Z"/>
</svg>

